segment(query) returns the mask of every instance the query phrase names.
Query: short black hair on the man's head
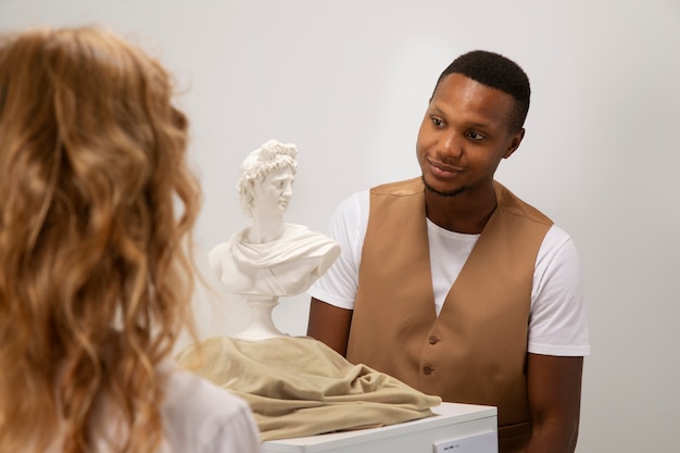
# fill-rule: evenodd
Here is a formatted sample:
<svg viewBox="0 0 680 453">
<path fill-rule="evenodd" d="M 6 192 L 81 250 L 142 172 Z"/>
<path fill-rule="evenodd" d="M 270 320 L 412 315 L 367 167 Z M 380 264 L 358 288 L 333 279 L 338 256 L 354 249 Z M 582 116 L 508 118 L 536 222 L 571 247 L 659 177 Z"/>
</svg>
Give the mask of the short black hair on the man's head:
<svg viewBox="0 0 680 453">
<path fill-rule="evenodd" d="M 473 50 L 455 59 L 441 73 L 435 91 L 444 77 L 454 73 L 511 95 L 516 102 L 508 124 L 512 131 L 521 129 L 529 112 L 531 87 L 529 77 L 517 63 L 499 53 Z"/>
</svg>

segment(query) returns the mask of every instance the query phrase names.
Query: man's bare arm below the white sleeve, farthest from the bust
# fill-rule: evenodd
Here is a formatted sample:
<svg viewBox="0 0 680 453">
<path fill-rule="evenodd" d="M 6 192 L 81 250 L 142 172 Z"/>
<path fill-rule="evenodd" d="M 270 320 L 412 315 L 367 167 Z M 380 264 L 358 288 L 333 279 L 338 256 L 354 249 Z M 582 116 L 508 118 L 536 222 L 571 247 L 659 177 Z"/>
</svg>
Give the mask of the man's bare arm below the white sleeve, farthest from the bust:
<svg viewBox="0 0 680 453">
<path fill-rule="evenodd" d="M 529 354 L 533 432 L 527 453 L 572 453 L 579 431 L 583 357 Z"/>
</svg>

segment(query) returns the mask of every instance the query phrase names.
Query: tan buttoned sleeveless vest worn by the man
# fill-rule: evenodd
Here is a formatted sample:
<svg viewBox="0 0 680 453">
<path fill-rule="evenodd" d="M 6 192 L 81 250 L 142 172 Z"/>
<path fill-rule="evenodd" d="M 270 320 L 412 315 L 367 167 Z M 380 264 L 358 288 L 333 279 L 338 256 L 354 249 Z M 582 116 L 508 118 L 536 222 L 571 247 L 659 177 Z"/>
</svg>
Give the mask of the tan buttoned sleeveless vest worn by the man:
<svg viewBox="0 0 680 453">
<path fill-rule="evenodd" d="M 495 183 L 498 207 L 439 317 L 423 181 L 370 190 L 348 360 L 444 401 L 499 407 L 504 452 L 530 437 L 527 341 L 533 268 L 552 222 Z"/>
</svg>

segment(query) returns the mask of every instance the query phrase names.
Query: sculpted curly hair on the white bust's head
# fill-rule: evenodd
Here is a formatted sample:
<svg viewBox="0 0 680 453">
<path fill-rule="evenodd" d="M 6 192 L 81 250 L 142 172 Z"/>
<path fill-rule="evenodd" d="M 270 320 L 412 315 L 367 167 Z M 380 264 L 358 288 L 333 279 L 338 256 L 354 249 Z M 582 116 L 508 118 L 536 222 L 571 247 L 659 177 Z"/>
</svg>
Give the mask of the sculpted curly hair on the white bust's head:
<svg viewBox="0 0 680 453">
<path fill-rule="evenodd" d="M 298 148 L 292 143 L 269 140 L 252 151 L 241 163 L 241 176 L 236 190 L 240 196 L 241 210 L 247 217 L 253 216 L 253 194 L 256 183 L 262 183 L 272 172 L 289 167 L 298 171 Z"/>
</svg>

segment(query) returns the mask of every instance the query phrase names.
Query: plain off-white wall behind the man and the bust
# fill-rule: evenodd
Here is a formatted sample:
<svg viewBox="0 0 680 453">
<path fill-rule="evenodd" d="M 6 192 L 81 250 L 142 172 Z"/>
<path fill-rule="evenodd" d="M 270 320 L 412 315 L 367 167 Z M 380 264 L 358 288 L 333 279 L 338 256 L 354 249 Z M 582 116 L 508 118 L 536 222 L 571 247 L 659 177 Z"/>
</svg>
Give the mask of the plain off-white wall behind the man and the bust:
<svg viewBox="0 0 680 453">
<path fill-rule="evenodd" d="M 91 23 L 177 75 L 203 250 L 248 225 L 238 166 L 267 139 L 299 147 L 287 221 L 324 230 L 351 192 L 418 174 L 416 131 L 453 58 L 482 48 L 519 62 L 528 133 L 498 178 L 581 254 L 592 355 L 578 451 L 678 451 L 680 2 L 0 0 L 1 30 Z M 219 290 L 196 304 L 203 335 L 248 322 Z M 284 300 L 276 323 L 304 335 L 307 310 L 306 295 Z"/>
</svg>

